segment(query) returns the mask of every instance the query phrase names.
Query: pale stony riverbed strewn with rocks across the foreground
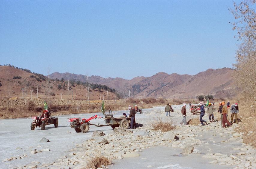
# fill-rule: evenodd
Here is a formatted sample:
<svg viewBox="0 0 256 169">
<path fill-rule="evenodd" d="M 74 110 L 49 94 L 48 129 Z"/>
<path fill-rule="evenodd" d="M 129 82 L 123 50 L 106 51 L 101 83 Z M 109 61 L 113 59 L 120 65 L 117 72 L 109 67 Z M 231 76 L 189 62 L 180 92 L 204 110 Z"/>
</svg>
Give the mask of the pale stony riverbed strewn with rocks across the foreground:
<svg viewBox="0 0 256 169">
<path fill-rule="evenodd" d="M 74 143 L 73 148 L 64 150 L 55 155 L 55 160 L 48 160 L 47 156 L 38 156 L 32 161 L 33 156 L 38 154 L 51 154 L 51 147 L 30 147 L 29 153 L 10 156 L 2 159 L 0 166 L 7 168 L 86 168 L 88 157 L 94 154 L 102 154 L 113 161 L 113 165 L 102 168 L 256 168 L 256 150 L 250 145 L 243 144 L 243 133 L 236 133 L 232 127 L 221 128 L 220 122 L 213 122 L 201 127 L 200 125 L 177 125 L 173 131 L 153 131 L 148 121 L 154 117 L 162 119 L 172 118 L 174 124 L 182 120 L 180 115 L 181 106 L 174 106 L 172 117 L 165 117 L 164 107 L 145 109 L 144 114 L 136 115 L 136 122 L 143 123 L 144 127 L 135 130 L 115 128 L 105 129 L 103 132 L 90 128 L 90 133 L 84 134 L 84 141 Z M 119 116 L 121 112 L 115 112 Z M 187 113 L 189 114 L 189 113 Z M 206 113 L 207 114 L 207 113 Z M 196 115 L 188 115 L 187 118 Z M 199 117 L 198 117 L 199 119 Z M 204 116 L 207 120 L 207 116 Z M 2 121 L 1 121 L 2 122 Z M 64 127 L 63 127 L 64 128 Z M 53 130 L 55 128 L 52 128 Z M 66 128 L 65 128 L 66 129 Z M 65 130 L 64 129 L 64 130 Z M 92 129 L 92 130 L 91 130 Z M 68 130 L 71 131 L 71 130 Z M 94 132 L 93 132 L 94 131 Z M 71 131 L 72 132 L 72 131 Z M 72 132 L 73 133 L 73 132 Z M 105 133 L 105 134 L 103 134 Z M 80 135 L 81 133 L 73 133 Z M 81 135 L 82 136 L 82 135 Z M 66 136 L 67 137 L 67 136 Z M 22 138 L 16 138 L 23 140 Z M 72 142 L 71 138 L 67 138 Z M 29 139 L 28 139 L 29 140 Z M 3 145 L 1 141 L 1 146 Z M 38 144 L 38 143 L 37 143 Z M 51 144 L 44 143 L 45 144 Z M 65 142 L 63 143 L 65 144 Z M 61 145 L 54 145 L 61 147 Z M 0 147 L 1 148 L 1 147 Z M 1 148 L 4 149 L 4 148 Z M 1 150 L 0 149 L 0 150 Z M 5 149 L 6 150 L 6 149 Z M 50 151 L 49 151 L 50 150 Z M 7 150 L 6 150 L 7 151 Z M 2 151 L 1 151 L 2 152 Z M 23 160 L 20 163 L 13 161 Z"/>
</svg>

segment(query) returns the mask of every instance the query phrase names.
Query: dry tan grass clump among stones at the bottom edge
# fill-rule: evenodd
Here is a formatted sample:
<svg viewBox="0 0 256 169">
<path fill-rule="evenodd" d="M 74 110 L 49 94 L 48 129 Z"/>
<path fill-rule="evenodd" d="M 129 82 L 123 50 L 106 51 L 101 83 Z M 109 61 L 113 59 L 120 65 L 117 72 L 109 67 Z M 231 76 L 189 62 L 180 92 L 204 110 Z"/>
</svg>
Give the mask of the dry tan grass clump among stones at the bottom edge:
<svg viewBox="0 0 256 169">
<path fill-rule="evenodd" d="M 87 162 L 86 162 L 86 168 L 92 168 L 92 169 L 97 169 L 101 168 L 102 165 L 111 165 L 111 160 L 108 159 L 107 157 L 104 157 L 101 154 L 94 154 L 93 156 L 88 157 Z"/>
</svg>

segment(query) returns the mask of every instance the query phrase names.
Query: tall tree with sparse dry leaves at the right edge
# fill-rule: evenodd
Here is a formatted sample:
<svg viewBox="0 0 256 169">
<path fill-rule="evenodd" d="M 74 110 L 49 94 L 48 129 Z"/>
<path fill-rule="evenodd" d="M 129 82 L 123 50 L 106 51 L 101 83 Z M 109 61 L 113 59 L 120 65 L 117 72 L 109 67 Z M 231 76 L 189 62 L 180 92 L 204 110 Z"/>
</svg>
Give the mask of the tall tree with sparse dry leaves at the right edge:
<svg viewBox="0 0 256 169">
<path fill-rule="evenodd" d="M 234 2 L 234 9 L 230 12 L 234 15 L 233 30 L 235 36 L 241 41 L 237 50 L 237 63 L 235 67 L 235 81 L 240 88 L 242 96 L 255 110 L 256 97 L 256 0 L 244 0 L 240 4 Z"/>
</svg>

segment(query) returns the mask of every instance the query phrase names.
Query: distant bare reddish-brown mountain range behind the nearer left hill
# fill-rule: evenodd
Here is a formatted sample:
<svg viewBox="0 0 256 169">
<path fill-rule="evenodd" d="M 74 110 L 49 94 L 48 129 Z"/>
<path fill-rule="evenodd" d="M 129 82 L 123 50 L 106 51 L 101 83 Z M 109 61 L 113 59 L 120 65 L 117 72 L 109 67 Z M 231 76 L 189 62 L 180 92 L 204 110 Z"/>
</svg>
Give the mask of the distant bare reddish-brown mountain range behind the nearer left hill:
<svg viewBox="0 0 256 169">
<path fill-rule="evenodd" d="M 120 77 L 103 78 L 100 76 L 89 76 L 89 83 L 98 83 L 115 88 L 123 96 L 136 98 L 142 97 L 164 97 L 164 98 L 195 98 L 200 94 L 212 94 L 215 97 L 232 97 L 237 93 L 233 84 L 234 70 L 231 68 L 208 69 L 196 75 L 171 75 L 159 72 L 151 77 L 134 77 L 126 80 Z M 50 75 L 52 79 L 69 79 L 87 82 L 87 76 L 71 73 L 54 72 Z"/>
</svg>

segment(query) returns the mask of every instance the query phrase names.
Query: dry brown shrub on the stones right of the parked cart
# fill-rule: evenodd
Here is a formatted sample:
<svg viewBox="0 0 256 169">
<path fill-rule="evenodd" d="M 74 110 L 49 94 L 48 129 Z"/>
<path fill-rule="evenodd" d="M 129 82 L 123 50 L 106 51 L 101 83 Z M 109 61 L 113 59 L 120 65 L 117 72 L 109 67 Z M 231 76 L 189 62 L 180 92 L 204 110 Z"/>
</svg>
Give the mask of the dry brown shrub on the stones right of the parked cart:
<svg viewBox="0 0 256 169">
<path fill-rule="evenodd" d="M 172 125 L 171 119 L 162 120 L 162 118 L 158 117 L 157 119 L 154 118 L 153 121 L 149 123 L 152 126 L 153 130 L 161 130 L 162 132 L 171 131 L 175 127 Z"/>
</svg>

